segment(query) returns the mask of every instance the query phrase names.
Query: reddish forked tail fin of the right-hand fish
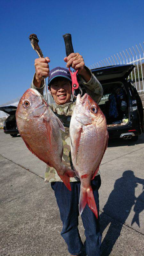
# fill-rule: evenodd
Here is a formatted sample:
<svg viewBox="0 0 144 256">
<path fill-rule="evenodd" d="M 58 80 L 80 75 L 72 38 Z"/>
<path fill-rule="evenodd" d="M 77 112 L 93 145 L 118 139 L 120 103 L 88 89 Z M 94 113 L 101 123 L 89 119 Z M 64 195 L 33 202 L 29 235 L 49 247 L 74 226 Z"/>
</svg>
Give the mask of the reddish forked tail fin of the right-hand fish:
<svg viewBox="0 0 144 256">
<path fill-rule="evenodd" d="M 80 198 L 79 198 L 79 213 L 82 214 L 85 205 L 88 204 L 89 208 L 95 214 L 96 218 L 98 219 L 98 210 L 94 200 L 92 187 L 90 186 L 87 189 L 81 187 L 80 190 Z"/>
</svg>

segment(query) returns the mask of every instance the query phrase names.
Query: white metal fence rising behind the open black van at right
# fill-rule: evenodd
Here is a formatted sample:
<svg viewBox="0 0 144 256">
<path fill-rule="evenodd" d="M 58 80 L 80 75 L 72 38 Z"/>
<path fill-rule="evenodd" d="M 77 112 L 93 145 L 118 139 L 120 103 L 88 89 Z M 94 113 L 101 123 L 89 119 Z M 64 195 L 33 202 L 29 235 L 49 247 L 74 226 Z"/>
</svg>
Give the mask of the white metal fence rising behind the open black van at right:
<svg viewBox="0 0 144 256">
<path fill-rule="evenodd" d="M 144 44 L 144 42 L 143 42 Z M 89 66 L 90 69 L 108 67 L 117 64 L 133 64 L 135 68 L 132 70 L 129 78 L 131 78 L 138 92 L 144 92 L 144 51 L 141 44 L 131 47 L 128 50 L 111 55 L 110 57 L 100 60 Z"/>
</svg>

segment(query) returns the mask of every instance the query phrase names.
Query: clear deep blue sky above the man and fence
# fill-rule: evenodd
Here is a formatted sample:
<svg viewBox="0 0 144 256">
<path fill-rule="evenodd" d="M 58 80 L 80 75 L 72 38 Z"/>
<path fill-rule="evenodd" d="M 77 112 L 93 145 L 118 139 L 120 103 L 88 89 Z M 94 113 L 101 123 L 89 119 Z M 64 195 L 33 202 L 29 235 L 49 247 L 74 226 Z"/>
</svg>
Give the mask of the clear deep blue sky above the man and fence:
<svg viewBox="0 0 144 256">
<path fill-rule="evenodd" d="M 28 36 L 36 34 L 50 69 L 65 67 L 62 35 L 70 33 L 75 52 L 87 66 L 143 42 L 144 1 L 1 0 L 0 105 L 30 87 L 36 52 Z"/>
</svg>

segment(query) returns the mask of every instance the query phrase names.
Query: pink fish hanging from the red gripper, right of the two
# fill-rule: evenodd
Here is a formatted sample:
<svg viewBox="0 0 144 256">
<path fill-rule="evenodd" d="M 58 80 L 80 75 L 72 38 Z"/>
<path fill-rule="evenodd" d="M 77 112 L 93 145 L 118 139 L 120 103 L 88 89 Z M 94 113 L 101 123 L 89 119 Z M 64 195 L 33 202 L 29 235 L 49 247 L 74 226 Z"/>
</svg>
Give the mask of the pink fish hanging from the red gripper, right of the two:
<svg viewBox="0 0 144 256">
<path fill-rule="evenodd" d="M 79 212 L 81 214 L 88 204 L 98 218 L 91 180 L 97 174 L 107 148 L 108 131 L 104 114 L 86 93 L 82 98 L 80 94 L 76 98 L 70 121 L 70 139 L 72 163 L 81 181 Z"/>
</svg>

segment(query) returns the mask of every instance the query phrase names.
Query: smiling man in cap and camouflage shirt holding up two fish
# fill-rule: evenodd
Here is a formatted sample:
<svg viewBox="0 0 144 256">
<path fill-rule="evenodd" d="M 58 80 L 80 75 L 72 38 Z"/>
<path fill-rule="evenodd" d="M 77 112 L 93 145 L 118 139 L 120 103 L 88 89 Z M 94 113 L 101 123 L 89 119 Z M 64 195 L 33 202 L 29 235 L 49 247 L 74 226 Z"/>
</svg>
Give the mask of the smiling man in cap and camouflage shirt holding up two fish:
<svg viewBox="0 0 144 256">
<path fill-rule="evenodd" d="M 64 58 L 64 61 L 67 62 L 67 68 L 70 66 L 74 69 L 79 68 L 78 74 L 86 92 L 94 101 L 99 103 L 103 94 L 102 86 L 92 72 L 84 65 L 83 57 L 79 53 L 71 53 L 68 57 Z M 62 132 L 62 162 L 66 166 L 73 169 L 70 154 L 69 124 L 73 109 L 75 107 L 75 102 L 71 101 L 71 77 L 68 69 L 66 68 L 57 67 L 49 71 L 49 62 L 50 59 L 48 57 L 35 60 L 36 73 L 34 75 L 31 87 L 43 94 L 44 81 L 42 77 L 49 76 L 48 89 L 56 103 L 56 105 L 49 104 L 49 106 L 52 108 L 53 112 L 60 117 L 60 119 L 62 119 L 65 126 L 65 132 Z M 80 180 L 77 177 L 70 178 L 72 191 L 69 191 L 58 176 L 56 170 L 47 165 L 45 181 L 51 182 L 51 187 L 56 196 L 57 204 L 60 210 L 60 218 L 63 223 L 61 236 L 68 245 L 68 251 L 71 255 L 80 255 L 83 247 L 83 243 L 77 228 Z M 100 172 L 98 172 L 94 180 L 91 181 L 98 213 L 98 189 L 100 188 L 100 184 Z M 98 220 L 96 219 L 94 213 L 91 211 L 88 205 L 85 206 L 81 218 L 85 229 L 87 256 L 100 256 L 101 234 L 99 218 Z"/>
</svg>

